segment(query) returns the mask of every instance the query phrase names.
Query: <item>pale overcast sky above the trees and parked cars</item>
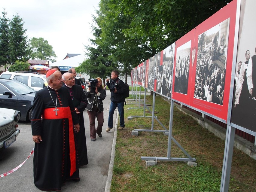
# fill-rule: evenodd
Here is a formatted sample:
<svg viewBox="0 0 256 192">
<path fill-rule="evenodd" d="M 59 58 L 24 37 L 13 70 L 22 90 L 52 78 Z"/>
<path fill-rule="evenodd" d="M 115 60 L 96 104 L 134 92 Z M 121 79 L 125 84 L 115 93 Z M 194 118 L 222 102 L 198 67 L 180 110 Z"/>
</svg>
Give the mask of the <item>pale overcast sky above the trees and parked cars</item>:
<svg viewBox="0 0 256 192">
<path fill-rule="evenodd" d="M 67 53 L 83 53 L 89 45 L 92 14 L 96 15 L 100 0 L 1 0 L 7 17 L 18 14 L 29 38 L 42 37 L 53 47 L 57 58 Z"/>
</svg>

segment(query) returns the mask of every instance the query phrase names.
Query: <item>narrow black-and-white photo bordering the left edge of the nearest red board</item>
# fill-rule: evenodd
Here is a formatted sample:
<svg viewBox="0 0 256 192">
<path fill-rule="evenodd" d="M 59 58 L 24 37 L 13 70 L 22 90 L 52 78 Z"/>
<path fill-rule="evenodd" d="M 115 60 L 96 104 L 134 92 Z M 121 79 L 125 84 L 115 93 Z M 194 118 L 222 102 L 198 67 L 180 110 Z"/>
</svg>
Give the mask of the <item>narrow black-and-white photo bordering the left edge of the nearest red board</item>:
<svg viewBox="0 0 256 192">
<path fill-rule="evenodd" d="M 175 43 L 171 44 L 163 50 L 163 83 L 161 93 L 171 98 L 172 93 L 172 70 L 174 63 Z"/>
</svg>

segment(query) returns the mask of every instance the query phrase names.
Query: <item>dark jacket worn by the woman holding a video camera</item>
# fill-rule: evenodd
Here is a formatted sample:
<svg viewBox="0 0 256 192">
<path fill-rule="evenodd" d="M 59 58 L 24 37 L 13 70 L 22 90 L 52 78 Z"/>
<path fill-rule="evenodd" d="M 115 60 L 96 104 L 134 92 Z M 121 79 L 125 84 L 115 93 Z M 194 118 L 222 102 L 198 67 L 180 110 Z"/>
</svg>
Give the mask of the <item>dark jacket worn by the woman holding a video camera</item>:
<svg viewBox="0 0 256 192">
<path fill-rule="evenodd" d="M 93 103 L 95 96 L 97 97 L 98 112 L 103 111 L 103 102 L 102 102 L 102 100 L 104 100 L 106 98 L 106 91 L 105 91 L 105 89 L 98 89 L 98 92 L 100 93 L 99 96 L 96 96 L 95 91 L 94 91 L 94 93 L 88 92 L 88 90 L 85 92 L 85 96 L 86 96 L 86 98 L 88 98 L 88 105 L 86 107 L 86 109 L 88 111 L 92 111 L 93 105 L 96 104 L 96 103 Z"/>
</svg>

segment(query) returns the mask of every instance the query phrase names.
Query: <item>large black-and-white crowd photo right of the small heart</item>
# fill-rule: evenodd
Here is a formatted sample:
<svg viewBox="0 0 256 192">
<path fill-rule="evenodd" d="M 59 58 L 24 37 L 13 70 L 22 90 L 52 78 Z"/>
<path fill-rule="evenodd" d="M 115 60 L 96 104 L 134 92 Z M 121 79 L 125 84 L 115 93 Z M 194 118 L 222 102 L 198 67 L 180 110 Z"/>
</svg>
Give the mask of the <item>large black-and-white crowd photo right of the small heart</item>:
<svg viewBox="0 0 256 192">
<path fill-rule="evenodd" d="M 223 105 L 229 22 L 198 36 L 194 98 Z"/>
</svg>

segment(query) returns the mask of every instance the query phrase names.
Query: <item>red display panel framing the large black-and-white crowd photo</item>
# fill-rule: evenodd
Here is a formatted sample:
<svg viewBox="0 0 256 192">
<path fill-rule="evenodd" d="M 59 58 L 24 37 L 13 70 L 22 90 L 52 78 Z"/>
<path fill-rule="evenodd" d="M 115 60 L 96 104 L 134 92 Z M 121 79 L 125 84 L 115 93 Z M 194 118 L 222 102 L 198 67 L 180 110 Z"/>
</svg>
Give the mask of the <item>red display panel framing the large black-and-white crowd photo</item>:
<svg viewBox="0 0 256 192">
<path fill-rule="evenodd" d="M 227 121 L 237 2 L 195 30 L 190 106 Z"/>
</svg>

